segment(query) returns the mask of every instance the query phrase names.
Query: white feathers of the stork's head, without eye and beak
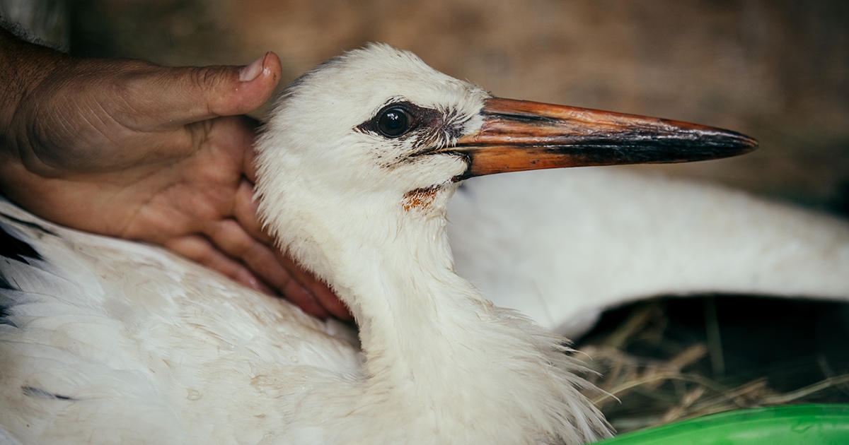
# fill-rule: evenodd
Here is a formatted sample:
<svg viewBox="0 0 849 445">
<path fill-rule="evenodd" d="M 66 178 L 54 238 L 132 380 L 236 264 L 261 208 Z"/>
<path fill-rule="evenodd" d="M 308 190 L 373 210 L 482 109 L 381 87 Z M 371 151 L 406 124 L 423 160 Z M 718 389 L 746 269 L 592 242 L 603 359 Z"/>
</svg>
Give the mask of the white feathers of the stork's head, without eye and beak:
<svg viewBox="0 0 849 445">
<path fill-rule="evenodd" d="M 466 165 L 458 156 L 419 156 L 481 126 L 486 92 L 433 70 L 413 53 L 372 44 L 333 58 L 293 82 L 279 98 L 257 144 L 261 213 L 278 240 L 308 269 L 341 288 L 335 275 L 350 264 L 335 241 L 374 236 L 375 224 L 419 219 L 402 212 L 404 196 L 443 187 L 429 214 L 444 215 L 452 178 Z M 391 103 L 439 112 L 439 125 L 421 125 L 388 139 L 357 128 Z M 388 227 L 386 227 L 388 225 Z M 319 247 L 320 246 L 320 247 Z M 330 264 L 340 259 L 340 264 Z"/>
</svg>

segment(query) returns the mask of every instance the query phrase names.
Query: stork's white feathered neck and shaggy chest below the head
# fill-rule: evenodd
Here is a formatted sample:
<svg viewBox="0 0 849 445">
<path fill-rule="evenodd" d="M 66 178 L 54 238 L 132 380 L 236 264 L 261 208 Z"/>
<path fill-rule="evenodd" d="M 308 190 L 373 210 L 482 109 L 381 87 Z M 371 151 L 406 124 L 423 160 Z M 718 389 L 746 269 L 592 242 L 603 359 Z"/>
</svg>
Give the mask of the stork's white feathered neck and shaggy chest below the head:
<svg viewBox="0 0 849 445">
<path fill-rule="evenodd" d="M 296 218 L 278 233 L 290 236 L 290 252 L 334 287 L 360 327 L 365 379 L 340 382 L 351 395 L 337 413 L 351 421 L 346 431 L 361 429 L 368 442 L 381 442 L 378 433 L 408 442 L 398 437 L 415 436 L 410 431 L 454 443 L 599 437 L 604 420 L 577 392 L 582 380 L 570 372 L 578 366 L 563 339 L 494 307 L 454 273 L 446 234 L 453 190 L 351 194 L 276 213 Z M 312 218 L 316 206 L 357 219 Z M 322 419 L 335 418 L 323 409 Z M 388 414 L 397 420 L 391 432 L 362 425 Z"/>
</svg>

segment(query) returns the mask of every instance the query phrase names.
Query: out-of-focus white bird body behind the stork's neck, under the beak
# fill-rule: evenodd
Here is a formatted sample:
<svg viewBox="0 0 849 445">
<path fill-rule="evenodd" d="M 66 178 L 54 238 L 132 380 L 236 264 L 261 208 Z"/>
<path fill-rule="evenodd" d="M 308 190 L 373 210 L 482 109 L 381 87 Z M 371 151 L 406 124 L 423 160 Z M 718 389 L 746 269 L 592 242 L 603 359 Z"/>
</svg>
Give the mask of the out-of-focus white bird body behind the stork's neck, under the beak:
<svg viewBox="0 0 849 445">
<path fill-rule="evenodd" d="M 849 299 L 849 222 L 722 186 L 621 168 L 492 175 L 467 181 L 448 219 L 458 274 L 566 337 L 640 298 Z"/>
</svg>

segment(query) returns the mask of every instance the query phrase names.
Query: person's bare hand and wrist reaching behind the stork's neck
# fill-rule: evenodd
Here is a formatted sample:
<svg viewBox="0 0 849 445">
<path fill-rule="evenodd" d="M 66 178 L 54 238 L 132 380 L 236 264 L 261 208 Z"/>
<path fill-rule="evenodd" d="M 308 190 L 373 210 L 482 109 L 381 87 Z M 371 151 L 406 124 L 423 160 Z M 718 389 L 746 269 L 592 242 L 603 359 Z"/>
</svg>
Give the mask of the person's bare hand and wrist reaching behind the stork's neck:
<svg viewBox="0 0 849 445">
<path fill-rule="evenodd" d="M 0 187 L 10 198 L 60 224 L 160 244 L 309 314 L 351 318 L 257 220 L 256 122 L 238 114 L 272 94 L 276 55 L 166 68 L 0 37 L 0 83 L 11 79 L 2 93 L 17 99 L 0 110 Z"/>
</svg>

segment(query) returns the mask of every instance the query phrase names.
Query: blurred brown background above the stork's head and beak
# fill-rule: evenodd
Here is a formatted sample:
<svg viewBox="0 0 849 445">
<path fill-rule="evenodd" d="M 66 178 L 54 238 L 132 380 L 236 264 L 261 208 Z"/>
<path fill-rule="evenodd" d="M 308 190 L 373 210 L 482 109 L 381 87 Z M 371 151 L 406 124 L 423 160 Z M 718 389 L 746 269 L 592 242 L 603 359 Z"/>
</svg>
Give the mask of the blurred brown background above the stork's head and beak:
<svg viewBox="0 0 849 445">
<path fill-rule="evenodd" d="M 283 60 L 284 85 L 346 49 L 388 42 L 501 97 L 740 131 L 761 141 L 756 153 L 629 168 L 849 213 L 849 3 L 842 0 L 66 4 L 68 45 L 84 55 L 247 64 L 271 50 Z"/>
</svg>

